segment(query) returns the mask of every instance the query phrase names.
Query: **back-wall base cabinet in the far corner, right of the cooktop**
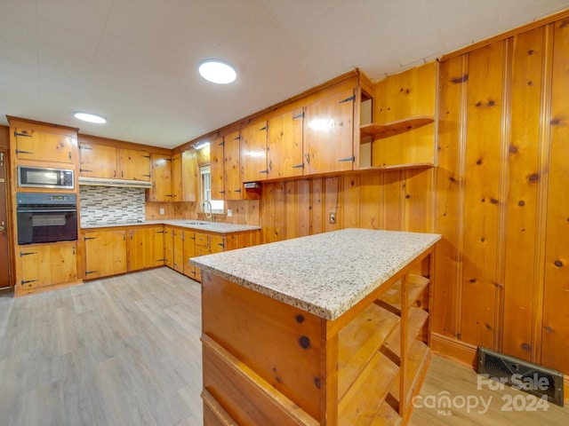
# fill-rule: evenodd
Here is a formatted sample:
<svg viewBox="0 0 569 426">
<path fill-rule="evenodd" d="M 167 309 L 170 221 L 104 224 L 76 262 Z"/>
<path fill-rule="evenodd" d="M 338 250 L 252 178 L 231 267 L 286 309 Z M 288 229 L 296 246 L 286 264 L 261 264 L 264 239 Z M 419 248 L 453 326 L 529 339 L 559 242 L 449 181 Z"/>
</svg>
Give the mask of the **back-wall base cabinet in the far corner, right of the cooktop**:
<svg viewBox="0 0 569 426">
<path fill-rule="evenodd" d="M 164 227 L 132 228 L 128 231 L 128 271 L 164 265 Z"/>
</svg>

